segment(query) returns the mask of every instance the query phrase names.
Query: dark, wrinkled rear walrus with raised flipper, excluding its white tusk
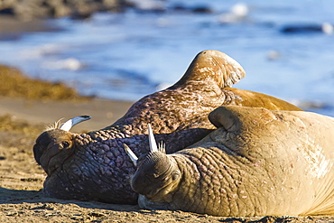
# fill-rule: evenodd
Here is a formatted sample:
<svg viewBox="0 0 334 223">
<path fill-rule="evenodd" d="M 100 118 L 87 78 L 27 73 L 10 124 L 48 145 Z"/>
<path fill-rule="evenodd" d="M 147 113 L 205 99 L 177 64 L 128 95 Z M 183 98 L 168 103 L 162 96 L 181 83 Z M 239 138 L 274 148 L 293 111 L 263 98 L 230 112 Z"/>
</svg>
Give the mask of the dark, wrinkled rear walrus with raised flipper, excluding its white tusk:
<svg viewBox="0 0 334 223">
<path fill-rule="evenodd" d="M 230 88 L 245 77 L 243 68 L 219 51 L 202 51 L 171 88 L 137 101 L 125 116 L 104 129 L 74 134 L 57 127 L 40 135 L 33 152 L 48 177 L 44 193 L 71 200 L 137 202 L 128 175 L 135 167 L 124 151 L 148 153 L 147 124 L 173 153 L 198 142 L 215 128 L 208 115 L 222 105 L 300 110 L 263 94 Z"/>
</svg>

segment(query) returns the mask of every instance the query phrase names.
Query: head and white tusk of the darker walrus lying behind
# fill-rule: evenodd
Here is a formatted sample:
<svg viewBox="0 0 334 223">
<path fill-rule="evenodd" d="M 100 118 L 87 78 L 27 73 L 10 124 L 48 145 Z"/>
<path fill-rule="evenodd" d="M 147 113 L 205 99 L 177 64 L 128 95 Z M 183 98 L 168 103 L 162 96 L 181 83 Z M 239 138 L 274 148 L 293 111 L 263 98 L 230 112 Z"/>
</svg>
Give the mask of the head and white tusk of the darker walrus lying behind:
<svg viewBox="0 0 334 223">
<path fill-rule="evenodd" d="M 80 122 L 90 119 L 90 116 L 76 116 L 59 126 L 59 122 L 51 125 L 36 139 L 33 145 L 33 154 L 36 162 L 44 171 L 51 174 L 72 153 L 73 138 L 76 134 L 70 133 L 70 128 Z"/>
</svg>

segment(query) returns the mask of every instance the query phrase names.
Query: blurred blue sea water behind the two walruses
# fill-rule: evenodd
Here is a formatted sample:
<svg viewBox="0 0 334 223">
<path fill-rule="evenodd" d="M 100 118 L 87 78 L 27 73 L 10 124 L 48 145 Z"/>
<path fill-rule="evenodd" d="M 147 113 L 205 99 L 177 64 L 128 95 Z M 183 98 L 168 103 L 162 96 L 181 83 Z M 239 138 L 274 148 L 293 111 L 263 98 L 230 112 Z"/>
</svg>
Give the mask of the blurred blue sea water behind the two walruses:
<svg viewBox="0 0 334 223">
<path fill-rule="evenodd" d="M 246 70 L 236 88 L 320 105 L 315 111 L 334 116 L 334 33 L 281 32 L 286 25 L 334 24 L 334 1 L 249 0 L 242 21 L 222 23 L 237 4 L 170 0 L 163 13 L 62 18 L 50 23 L 63 31 L 0 42 L 0 62 L 31 77 L 66 81 L 85 95 L 135 101 L 180 79 L 199 51 L 218 50 Z M 213 12 L 175 11 L 174 5 Z"/>
</svg>

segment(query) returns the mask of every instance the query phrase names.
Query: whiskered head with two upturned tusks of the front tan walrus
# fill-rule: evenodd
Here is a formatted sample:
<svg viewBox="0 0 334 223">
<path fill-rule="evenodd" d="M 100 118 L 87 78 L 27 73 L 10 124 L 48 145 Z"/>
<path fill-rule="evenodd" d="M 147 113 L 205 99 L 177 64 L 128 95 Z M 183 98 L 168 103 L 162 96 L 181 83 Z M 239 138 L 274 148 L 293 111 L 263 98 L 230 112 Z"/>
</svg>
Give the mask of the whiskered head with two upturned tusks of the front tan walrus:
<svg viewBox="0 0 334 223">
<path fill-rule="evenodd" d="M 147 155 L 138 159 L 125 144 L 125 152 L 137 166 L 131 179 L 131 187 L 149 200 L 163 199 L 168 202 L 171 200 L 167 194 L 177 188 L 181 181 L 181 171 L 175 161 L 166 155 L 164 146 L 162 144 L 157 146 L 155 143 L 151 125 L 148 125 L 148 130 L 150 153 Z"/>
</svg>

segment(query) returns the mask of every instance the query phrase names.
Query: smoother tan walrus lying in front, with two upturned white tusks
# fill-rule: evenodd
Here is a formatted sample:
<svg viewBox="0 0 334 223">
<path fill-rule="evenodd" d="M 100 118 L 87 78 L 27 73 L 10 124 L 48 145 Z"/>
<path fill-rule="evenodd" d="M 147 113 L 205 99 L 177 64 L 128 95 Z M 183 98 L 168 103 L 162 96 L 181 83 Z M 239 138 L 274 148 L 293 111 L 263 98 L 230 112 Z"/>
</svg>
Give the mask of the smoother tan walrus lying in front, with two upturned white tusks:
<svg viewBox="0 0 334 223">
<path fill-rule="evenodd" d="M 334 214 L 333 117 L 227 106 L 209 119 L 218 129 L 186 149 L 166 154 L 151 136 L 150 153 L 132 154 L 141 208 L 227 217 Z"/>
</svg>

